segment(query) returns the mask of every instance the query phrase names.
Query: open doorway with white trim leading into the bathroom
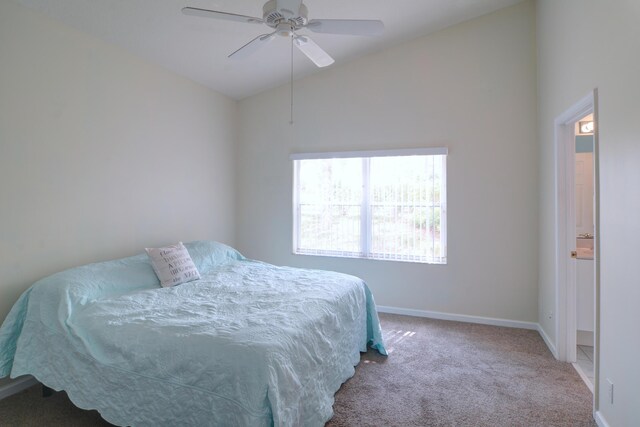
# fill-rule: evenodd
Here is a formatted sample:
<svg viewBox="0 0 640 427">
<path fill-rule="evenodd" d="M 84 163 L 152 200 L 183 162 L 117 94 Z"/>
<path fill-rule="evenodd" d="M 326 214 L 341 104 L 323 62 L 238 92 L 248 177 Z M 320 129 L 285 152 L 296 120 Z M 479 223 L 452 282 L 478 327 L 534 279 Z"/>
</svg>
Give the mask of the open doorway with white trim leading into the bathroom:
<svg viewBox="0 0 640 427">
<path fill-rule="evenodd" d="M 599 344 L 600 236 L 597 113 L 597 90 L 594 90 L 555 120 L 557 353 L 558 359 L 576 363 L 578 359 L 587 358 L 578 345 L 593 343 L 593 352 L 588 355 L 593 368 L 589 376 L 585 373 L 583 379 L 590 385 L 591 390 L 595 391 L 594 402 L 597 402 Z M 580 129 L 581 124 L 592 126 L 592 128 L 586 126 Z M 589 166 L 593 172 L 592 177 L 583 175 L 586 168 L 585 159 L 589 156 L 579 156 L 579 153 L 576 153 L 576 136 L 586 134 L 592 135 L 590 150 L 592 160 Z M 581 142 L 584 143 L 584 140 Z M 580 151 L 586 151 L 586 149 L 582 147 Z M 579 159 L 578 163 L 576 163 L 577 159 Z M 576 172 L 579 172 L 578 176 Z M 584 188 L 584 184 L 589 180 L 593 190 Z M 576 185 L 583 187 L 577 190 Z M 588 200 L 584 200 L 585 196 L 588 196 Z M 587 207 L 592 208 L 592 219 L 584 215 L 587 213 L 585 212 Z M 578 264 L 579 262 L 581 264 Z M 591 313 L 590 319 L 585 318 L 586 312 Z M 579 334 L 579 331 L 582 332 Z M 580 372 L 579 369 L 578 371 Z"/>
</svg>

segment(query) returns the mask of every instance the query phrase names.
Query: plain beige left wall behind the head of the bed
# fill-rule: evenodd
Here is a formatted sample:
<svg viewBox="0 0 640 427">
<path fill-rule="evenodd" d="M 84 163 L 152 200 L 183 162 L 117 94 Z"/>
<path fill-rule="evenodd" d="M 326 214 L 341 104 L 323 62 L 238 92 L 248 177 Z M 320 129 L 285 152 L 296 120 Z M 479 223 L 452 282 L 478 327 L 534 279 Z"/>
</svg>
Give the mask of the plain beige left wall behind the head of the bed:
<svg viewBox="0 0 640 427">
<path fill-rule="evenodd" d="M 234 243 L 236 102 L 0 2 L 0 319 L 36 279 Z"/>
</svg>

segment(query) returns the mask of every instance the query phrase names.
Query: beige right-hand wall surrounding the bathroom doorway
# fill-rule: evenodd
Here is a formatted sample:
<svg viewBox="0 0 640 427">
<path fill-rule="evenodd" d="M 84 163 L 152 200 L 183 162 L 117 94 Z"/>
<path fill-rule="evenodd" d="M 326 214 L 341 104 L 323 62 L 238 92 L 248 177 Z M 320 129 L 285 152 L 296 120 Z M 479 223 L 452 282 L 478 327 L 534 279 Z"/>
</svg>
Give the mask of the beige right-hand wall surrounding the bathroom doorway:
<svg viewBox="0 0 640 427">
<path fill-rule="evenodd" d="M 600 132 L 600 375 L 598 417 L 640 420 L 640 2 L 538 2 L 540 139 L 539 318 L 555 341 L 553 122 L 598 88 Z M 614 384 L 614 403 L 606 379 Z"/>
</svg>

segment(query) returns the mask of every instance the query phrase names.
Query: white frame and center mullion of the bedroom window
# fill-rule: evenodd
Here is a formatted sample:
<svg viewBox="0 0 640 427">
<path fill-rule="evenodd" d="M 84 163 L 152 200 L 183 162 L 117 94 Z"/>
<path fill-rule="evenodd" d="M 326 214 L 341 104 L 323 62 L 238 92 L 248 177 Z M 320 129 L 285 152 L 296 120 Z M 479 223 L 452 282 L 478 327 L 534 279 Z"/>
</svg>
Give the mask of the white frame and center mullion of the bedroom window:
<svg viewBox="0 0 640 427">
<path fill-rule="evenodd" d="M 395 150 L 367 150 L 367 151 L 333 151 L 333 152 L 315 152 L 315 153 L 294 153 L 289 156 L 293 163 L 293 186 L 292 186 L 292 216 L 293 216 L 293 233 L 292 233 L 292 252 L 294 255 L 315 255 L 330 256 L 340 258 L 357 258 L 372 261 L 396 261 L 396 262 L 414 262 L 420 264 L 447 264 L 447 157 L 449 150 L 447 147 L 425 147 L 425 148 L 408 148 Z M 374 252 L 371 248 L 372 230 L 371 230 L 371 201 L 370 199 L 370 161 L 373 157 L 399 157 L 399 156 L 445 156 L 442 162 L 443 183 L 440 195 L 440 232 L 441 254 L 439 257 L 431 259 L 417 260 L 415 256 L 407 255 L 402 258 L 390 257 L 372 257 L 368 256 Z M 363 158 L 367 161 L 363 162 L 362 168 L 362 185 L 366 190 L 363 192 L 363 200 L 361 202 L 361 219 L 360 219 L 360 251 L 339 251 L 339 250 L 304 250 L 300 249 L 300 218 L 299 218 L 299 188 L 300 188 L 300 160 L 318 160 L 318 159 L 340 159 L 340 158 Z"/>
</svg>

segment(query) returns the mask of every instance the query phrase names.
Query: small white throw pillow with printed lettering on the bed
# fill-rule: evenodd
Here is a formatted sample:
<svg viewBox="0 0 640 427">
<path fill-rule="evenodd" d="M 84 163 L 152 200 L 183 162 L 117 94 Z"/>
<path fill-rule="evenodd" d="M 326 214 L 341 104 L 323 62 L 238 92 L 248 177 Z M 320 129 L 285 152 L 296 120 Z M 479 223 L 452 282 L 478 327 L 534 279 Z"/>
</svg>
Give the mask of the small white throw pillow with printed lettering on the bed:
<svg viewBox="0 0 640 427">
<path fill-rule="evenodd" d="M 163 287 L 175 286 L 200 278 L 189 251 L 182 242 L 163 248 L 145 248 L 153 271 Z"/>
</svg>

